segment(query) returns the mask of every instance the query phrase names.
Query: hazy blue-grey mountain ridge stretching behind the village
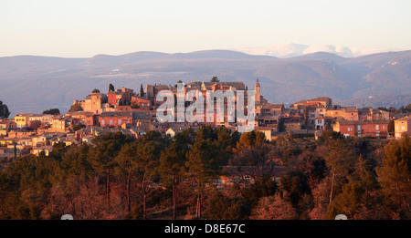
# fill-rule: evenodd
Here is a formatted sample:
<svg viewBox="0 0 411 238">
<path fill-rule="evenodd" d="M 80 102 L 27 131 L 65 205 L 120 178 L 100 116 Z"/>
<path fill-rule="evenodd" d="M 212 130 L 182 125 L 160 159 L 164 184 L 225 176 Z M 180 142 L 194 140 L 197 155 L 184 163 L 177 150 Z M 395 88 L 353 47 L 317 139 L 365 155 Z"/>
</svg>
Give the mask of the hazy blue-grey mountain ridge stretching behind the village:
<svg viewBox="0 0 411 238">
<path fill-rule="evenodd" d="M 402 95 L 411 88 L 411 51 L 364 57 L 317 52 L 278 58 L 229 50 L 143 51 L 90 58 L 0 57 L 0 100 L 11 117 L 55 108 L 66 112 L 74 99 L 85 98 L 94 88 L 107 92 L 111 83 L 115 88 L 138 90 L 141 84 L 209 81 L 213 76 L 242 81 L 249 89 L 258 78 L 262 95 L 274 103 L 321 96 L 345 101 Z"/>
</svg>

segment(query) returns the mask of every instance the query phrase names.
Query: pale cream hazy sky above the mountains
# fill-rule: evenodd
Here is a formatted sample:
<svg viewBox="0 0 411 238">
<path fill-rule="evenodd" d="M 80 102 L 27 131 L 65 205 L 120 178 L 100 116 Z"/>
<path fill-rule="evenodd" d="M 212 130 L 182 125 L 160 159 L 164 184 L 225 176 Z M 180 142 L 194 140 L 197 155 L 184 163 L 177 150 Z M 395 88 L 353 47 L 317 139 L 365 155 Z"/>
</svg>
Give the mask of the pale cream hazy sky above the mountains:
<svg viewBox="0 0 411 238">
<path fill-rule="evenodd" d="M 411 49 L 409 0 L 2 0 L 0 57 L 286 43 Z"/>
</svg>

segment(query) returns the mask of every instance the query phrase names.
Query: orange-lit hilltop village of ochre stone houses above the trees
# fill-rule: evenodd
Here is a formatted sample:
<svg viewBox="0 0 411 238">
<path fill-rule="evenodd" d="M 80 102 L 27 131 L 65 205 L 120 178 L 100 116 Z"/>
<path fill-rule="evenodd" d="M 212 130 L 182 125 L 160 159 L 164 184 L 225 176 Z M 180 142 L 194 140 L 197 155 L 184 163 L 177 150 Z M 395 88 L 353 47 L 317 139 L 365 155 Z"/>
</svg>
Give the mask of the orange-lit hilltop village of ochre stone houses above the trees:
<svg viewBox="0 0 411 238">
<path fill-rule="evenodd" d="M 290 108 L 285 108 L 284 104 L 270 103 L 261 95 L 260 88 L 257 79 L 254 86 L 254 128 L 263 132 L 267 140 L 274 140 L 284 134 L 318 138 L 326 129 L 333 129 L 345 137 L 398 139 L 403 133 L 411 134 L 411 117 L 406 115 L 393 120 L 393 112 L 343 108 L 334 105 L 332 98 L 328 97 L 299 100 Z M 202 125 L 237 130 L 237 121 L 228 122 L 227 113 L 223 122 L 159 122 L 156 109 L 163 101 L 158 101 L 156 96 L 162 90 L 169 90 L 175 96 L 177 85 L 146 85 L 145 89 L 141 85 L 139 91 L 132 88 L 114 89 L 110 85 L 107 93 L 94 89 L 85 99 L 74 100 L 71 109 L 63 115 L 21 113 L 16 114 L 14 119 L 0 119 L 0 158 L 12 159 L 41 151 L 47 155 L 55 143 L 64 142 L 67 146 L 91 143 L 93 138 L 107 132 L 121 131 L 139 138 L 151 130 L 174 137 L 175 133 L 184 129 L 198 129 Z M 217 78 L 210 82 L 195 81 L 184 85 L 185 94 L 205 94 L 209 90 L 247 92 L 248 87 L 242 82 L 220 82 Z M 184 106 L 188 107 L 191 103 L 185 101 Z"/>
</svg>

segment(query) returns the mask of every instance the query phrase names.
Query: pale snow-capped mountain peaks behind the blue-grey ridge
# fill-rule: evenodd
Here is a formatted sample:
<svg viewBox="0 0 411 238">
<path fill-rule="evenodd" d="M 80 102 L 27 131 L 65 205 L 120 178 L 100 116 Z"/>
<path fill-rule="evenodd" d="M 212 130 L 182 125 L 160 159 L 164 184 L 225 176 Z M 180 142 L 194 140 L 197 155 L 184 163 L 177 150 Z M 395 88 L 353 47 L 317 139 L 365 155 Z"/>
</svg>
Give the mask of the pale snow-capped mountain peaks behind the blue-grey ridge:
<svg viewBox="0 0 411 238">
<path fill-rule="evenodd" d="M 305 46 L 300 44 L 283 44 L 274 47 L 245 47 L 233 49 L 248 55 L 270 56 L 270 57 L 299 57 L 316 52 L 332 53 L 340 57 L 362 57 L 366 55 L 401 51 L 398 48 L 372 48 L 372 47 L 341 47 L 332 45 Z"/>
</svg>

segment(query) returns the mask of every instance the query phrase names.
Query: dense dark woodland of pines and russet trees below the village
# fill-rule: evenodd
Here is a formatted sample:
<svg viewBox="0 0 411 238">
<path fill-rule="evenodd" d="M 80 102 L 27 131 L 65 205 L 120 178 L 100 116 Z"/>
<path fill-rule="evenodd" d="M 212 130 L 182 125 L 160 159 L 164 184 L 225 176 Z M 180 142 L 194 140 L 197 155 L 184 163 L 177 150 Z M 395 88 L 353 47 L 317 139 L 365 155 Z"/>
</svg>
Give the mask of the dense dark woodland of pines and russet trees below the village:
<svg viewBox="0 0 411 238">
<path fill-rule="evenodd" d="M 273 180 L 277 166 L 290 170 Z M 238 178 L 258 170 L 221 189 L 216 178 L 227 168 Z M 92 145 L 57 143 L 49 156 L 2 161 L 0 219 L 409 219 L 410 172 L 408 136 L 325 131 L 320 140 L 267 141 L 256 131 L 211 127 L 174 138 L 109 133 Z"/>
</svg>

